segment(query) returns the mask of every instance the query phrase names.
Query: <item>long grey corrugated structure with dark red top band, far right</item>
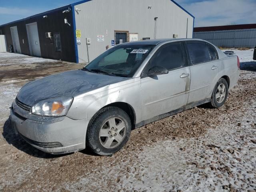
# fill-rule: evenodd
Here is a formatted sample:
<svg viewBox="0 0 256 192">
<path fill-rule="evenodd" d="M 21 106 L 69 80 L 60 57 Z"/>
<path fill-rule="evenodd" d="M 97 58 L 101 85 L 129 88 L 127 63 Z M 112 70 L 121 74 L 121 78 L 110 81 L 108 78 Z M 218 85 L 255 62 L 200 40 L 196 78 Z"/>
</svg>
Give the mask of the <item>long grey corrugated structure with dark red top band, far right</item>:
<svg viewBox="0 0 256 192">
<path fill-rule="evenodd" d="M 193 38 L 204 39 L 219 47 L 256 46 L 256 24 L 194 28 Z"/>
</svg>

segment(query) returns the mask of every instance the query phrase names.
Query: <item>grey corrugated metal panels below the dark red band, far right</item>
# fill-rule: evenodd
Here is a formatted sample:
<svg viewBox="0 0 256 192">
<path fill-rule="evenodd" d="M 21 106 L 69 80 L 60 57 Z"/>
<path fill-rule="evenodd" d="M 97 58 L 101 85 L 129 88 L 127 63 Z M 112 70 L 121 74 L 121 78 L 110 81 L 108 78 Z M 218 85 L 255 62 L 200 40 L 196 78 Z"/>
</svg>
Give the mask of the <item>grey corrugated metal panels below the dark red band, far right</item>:
<svg viewBox="0 0 256 192">
<path fill-rule="evenodd" d="M 256 29 L 194 32 L 193 38 L 204 39 L 222 47 L 254 48 L 256 46 Z"/>
</svg>

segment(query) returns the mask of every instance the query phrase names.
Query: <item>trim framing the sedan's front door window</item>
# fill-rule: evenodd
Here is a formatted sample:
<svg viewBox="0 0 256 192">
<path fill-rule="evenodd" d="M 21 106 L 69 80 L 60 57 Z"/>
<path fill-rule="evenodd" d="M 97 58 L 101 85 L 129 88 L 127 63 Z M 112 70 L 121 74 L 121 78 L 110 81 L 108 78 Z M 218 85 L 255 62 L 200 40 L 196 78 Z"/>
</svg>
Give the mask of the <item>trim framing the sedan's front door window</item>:
<svg viewBox="0 0 256 192">
<path fill-rule="evenodd" d="M 171 44 L 180 44 L 181 45 L 181 48 L 182 48 L 182 52 L 183 52 L 183 57 L 184 57 L 184 62 L 185 62 L 185 65 L 184 66 L 181 66 L 181 67 L 178 67 L 178 68 L 173 68 L 173 69 L 170 69 L 168 70 L 169 72 L 170 71 L 173 71 L 173 70 L 177 70 L 177 69 L 181 69 L 181 68 L 185 68 L 185 67 L 188 67 L 189 64 L 188 64 L 188 55 L 186 53 L 186 49 L 185 49 L 185 46 L 184 46 L 184 43 L 182 41 L 176 41 L 176 42 L 169 42 L 169 43 L 166 43 L 166 44 L 163 44 L 162 46 L 160 46 L 156 52 L 154 52 L 154 54 L 152 55 L 152 57 L 150 58 L 150 60 L 148 61 L 148 63 L 145 65 L 145 67 L 143 68 L 141 74 L 140 74 L 140 78 L 146 78 L 148 77 L 145 73 L 144 73 L 144 70 L 146 70 L 147 66 L 150 64 L 151 60 L 154 58 L 154 56 L 156 56 L 156 54 L 158 53 L 158 51 L 163 48 L 163 47 L 166 47 L 168 45 L 171 45 Z"/>
</svg>

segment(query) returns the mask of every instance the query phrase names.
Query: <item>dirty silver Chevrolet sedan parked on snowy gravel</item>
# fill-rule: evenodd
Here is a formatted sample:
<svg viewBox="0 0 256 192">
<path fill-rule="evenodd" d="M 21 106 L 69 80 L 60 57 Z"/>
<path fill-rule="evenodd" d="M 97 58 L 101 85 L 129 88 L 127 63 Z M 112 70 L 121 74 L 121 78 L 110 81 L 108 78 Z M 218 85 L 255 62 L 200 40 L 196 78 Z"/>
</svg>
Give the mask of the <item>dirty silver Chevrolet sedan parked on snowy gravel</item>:
<svg viewBox="0 0 256 192">
<path fill-rule="evenodd" d="M 116 45 L 81 70 L 24 85 L 10 120 L 29 144 L 52 154 L 90 148 L 111 155 L 132 129 L 210 103 L 221 107 L 239 59 L 198 39 Z"/>
</svg>

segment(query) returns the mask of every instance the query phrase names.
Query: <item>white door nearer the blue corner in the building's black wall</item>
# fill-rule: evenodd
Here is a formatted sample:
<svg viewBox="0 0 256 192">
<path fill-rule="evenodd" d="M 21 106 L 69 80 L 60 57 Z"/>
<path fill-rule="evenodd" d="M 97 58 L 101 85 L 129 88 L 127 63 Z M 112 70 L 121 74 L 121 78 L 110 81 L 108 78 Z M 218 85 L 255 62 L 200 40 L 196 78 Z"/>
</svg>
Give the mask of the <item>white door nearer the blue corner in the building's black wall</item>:
<svg viewBox="0 0 256 192">
<path fill-rule="evenodd" d="M 30 55 L 41 56 L 37 23 L 26 24 Z"/>
</svg>

